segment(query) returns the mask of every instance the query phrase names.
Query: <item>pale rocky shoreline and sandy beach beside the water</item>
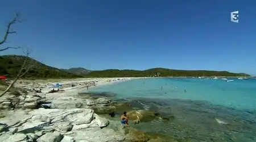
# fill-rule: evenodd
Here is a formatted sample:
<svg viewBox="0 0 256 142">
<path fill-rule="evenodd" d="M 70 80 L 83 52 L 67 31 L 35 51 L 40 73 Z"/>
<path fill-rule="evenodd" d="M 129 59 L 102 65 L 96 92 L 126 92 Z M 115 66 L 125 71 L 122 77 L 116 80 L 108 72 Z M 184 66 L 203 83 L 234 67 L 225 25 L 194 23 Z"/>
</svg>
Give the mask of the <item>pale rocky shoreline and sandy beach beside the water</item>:
<svg viewBox="0 0 256 142">
<path fill-rule="evenodd" d="M 105 80 L 61 82 L 63 87 L 55 93 L 48 93 L 52 90 L 49 82 L 17 82 L 16 90 L 0 99 L 0 141 L 167 141 L 133 127 L 122 128 L 119 121 L 97 115 L 132 110 L 129 103 L 113 101 L 105 94 L 79 93 L 87 86 L 102 85 Z M 156 116 L 154 112 L 129 113 L 131 118 Z"/>
</svg>

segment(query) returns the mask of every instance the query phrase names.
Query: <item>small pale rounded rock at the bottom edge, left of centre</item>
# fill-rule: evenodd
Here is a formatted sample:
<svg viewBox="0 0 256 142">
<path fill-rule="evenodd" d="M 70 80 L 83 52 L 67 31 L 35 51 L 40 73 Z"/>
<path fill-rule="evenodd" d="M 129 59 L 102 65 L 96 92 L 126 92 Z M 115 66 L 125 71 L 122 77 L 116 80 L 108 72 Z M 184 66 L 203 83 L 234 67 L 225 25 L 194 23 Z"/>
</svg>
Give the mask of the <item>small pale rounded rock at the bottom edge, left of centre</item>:
<svg viewBox="0 0 256 142">
<path fill-rule="evenodd" d="M 63 135 L 60 132 L 46 133 L 39 137 L 36 141 L 38 142 L 59 142 L 63 139 Z"/>
</svg>

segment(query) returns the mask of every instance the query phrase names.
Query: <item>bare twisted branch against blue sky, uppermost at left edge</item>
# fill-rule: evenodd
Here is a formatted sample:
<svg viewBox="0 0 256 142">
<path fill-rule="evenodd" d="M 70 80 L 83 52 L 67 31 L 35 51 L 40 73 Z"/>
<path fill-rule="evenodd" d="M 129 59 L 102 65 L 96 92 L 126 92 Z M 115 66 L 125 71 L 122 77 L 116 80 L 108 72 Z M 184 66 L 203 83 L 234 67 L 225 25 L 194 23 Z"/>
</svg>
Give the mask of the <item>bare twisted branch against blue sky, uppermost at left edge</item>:
<svg viewBox="0 0 256 142">
<path fill-rule="evenodd" d="M 7 42 L 7 37 L 10 34 L 16 33 L 15 31 L 10 31 L 10 30 L 11 30 L 11 27 L 13 26 L 13 24 L 20 22 L 19 18 L 20 18 L 20 14 L 19 14 L 19 12 L 16 12 L 13 20 L 11 20 L 9 23 L 7 23 L 7 29 L 6 29 L 5 35 L 3 36 L 3 40 L 0 41 L 0 46 L 2 46 L 4 43 Z M 18 48 L 20 48 L 20 47 L 3 47 L 3 48 L 0 47 L 0 52 L 5 51 L 7 49 L 18 49 Z"/>
</svg>

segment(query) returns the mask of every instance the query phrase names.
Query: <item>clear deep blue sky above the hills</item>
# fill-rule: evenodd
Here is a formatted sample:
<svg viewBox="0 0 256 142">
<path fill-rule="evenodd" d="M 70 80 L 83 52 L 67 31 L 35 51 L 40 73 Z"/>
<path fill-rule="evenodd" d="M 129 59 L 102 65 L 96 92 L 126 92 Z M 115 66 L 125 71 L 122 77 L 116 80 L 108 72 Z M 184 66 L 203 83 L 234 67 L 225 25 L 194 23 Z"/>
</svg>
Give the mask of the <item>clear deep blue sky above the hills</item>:
<svg viewBox="0 0 256 142">
<path fill-rule="evenodd" d="M 239 10 L 239 23 L 230 12 Z M 256 74 L 256 1 L 1 1 L 0 34 L 20 11 L 7 45 L 57 68 L 207 69 Z M 0 53 L 20 54 L 10 49 Z"/>
</svg>

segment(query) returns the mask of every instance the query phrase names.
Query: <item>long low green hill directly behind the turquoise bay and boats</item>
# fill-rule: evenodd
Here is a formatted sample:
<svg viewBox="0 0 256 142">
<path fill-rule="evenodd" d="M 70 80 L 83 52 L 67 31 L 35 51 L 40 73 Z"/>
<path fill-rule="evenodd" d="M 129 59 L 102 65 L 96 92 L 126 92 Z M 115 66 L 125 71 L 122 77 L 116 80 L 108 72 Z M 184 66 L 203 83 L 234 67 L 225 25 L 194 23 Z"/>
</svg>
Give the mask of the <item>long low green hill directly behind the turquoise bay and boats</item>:
<svg viewBox="0 0 256 142">
<path fill-rule="evenodd" d="M 243 73 L 230 73 L 226 71 L 210 71 L 210 70 L 174 70 L 165 68 L 153 68 L 147 70 L 98 70 L 84 75 L 85 77 L 213 77 L 213 76 L 226 76 L 226 77 L 241 77 L 245 76 Z M 246 74 L 246 76 L 249 76 Z"/>
</svg>

